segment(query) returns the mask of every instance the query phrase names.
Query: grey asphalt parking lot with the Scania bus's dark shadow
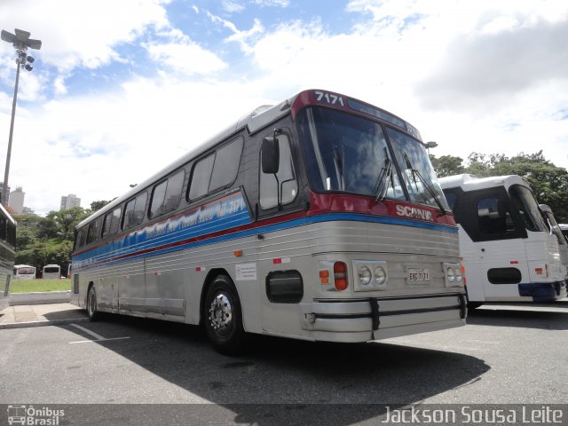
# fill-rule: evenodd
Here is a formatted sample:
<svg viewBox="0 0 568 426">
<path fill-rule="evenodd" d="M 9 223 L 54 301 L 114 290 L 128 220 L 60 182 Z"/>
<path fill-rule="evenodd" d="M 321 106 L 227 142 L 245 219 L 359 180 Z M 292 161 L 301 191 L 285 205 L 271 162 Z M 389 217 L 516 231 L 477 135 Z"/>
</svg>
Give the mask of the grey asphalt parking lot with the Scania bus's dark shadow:
<svg viewBox="0 0 568 426">
<path fill-rule="evenodd" d="M 466 327 L 364 344 L 259 336 L 240 358 L 213 351 L 199 327 L 115 315 L 0 330 L 0 347 L 3 404 L 212 404 L 226 424 L 327 406 L 343 417 L 312 420 L 378 424 L 385 405 L 568 401 L 565 303 L 486 305 Z"/>
</svg>

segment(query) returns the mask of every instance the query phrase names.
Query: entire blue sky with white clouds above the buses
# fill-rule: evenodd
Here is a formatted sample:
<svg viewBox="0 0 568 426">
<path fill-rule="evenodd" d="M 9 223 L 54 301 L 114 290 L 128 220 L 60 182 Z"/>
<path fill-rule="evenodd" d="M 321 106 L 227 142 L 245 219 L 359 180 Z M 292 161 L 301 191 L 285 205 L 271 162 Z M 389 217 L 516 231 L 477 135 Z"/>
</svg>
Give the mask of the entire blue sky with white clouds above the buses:
<svg viewBox="0 0 568 426">
<path fill-rule="evenodd" d="M 40 214 L 113 199 L 307 88 L 398 114 L 438 156 L 542 149 L 568 167 L 564 0 L 3 0 L 0 28 L 43 41 L 9 181 Z M 14 59 L 0 43 L 0 171 Z"/>
</svg>

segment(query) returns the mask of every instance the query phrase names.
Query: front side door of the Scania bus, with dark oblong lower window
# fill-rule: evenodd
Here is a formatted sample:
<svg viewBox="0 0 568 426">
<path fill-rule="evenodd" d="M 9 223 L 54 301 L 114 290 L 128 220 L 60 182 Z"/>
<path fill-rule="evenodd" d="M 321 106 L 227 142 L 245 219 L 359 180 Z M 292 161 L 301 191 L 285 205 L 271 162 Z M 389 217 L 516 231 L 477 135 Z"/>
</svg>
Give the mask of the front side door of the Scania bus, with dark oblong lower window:
<svg viewBox="0 0 568 426">
<path fill-rule="evenodd" d="M 306 241 L 298 235 L 298 228 L 288 228 L 285 221 L 279 223 L 277 219 L 305 206 L 304 196 L 298 194 L 298 168 L 293 160 L 296 155 L 288 135 L 287 129 L 280 130 L 278 134 L 267 132 L 263 135 L 259 151 L 257 218 L 274 218 L 277 225 L 273 226 L 273 231 L 258 235 L 258 261 L 254 272 L 255 285 L 260 286 L 256 291 L 261 295 L 263 306 L 262 327 L 266 331 L 284 334 L 293 333 L 297 328 L 297 320 L 289 319 L 294 318 L 291 312 L 298 312 L 297 304 L 304 296 L 304 277 L 299 269 L 306 256 L 298 256 L 298 249 L 300 245 L 307 247 Z M 274 155 L 276 138 L 279 154 Z M 268 163 L 277 157 L 279 161 L 272 162 L 270 167 Z M 274 168 L 276 164 L 278 167 Z M 250 271 L 241 271 L 241 274 L 244 273 Z M 246 278 L 239 275 L 237 270 L 237 280 Z"/>
</svg>

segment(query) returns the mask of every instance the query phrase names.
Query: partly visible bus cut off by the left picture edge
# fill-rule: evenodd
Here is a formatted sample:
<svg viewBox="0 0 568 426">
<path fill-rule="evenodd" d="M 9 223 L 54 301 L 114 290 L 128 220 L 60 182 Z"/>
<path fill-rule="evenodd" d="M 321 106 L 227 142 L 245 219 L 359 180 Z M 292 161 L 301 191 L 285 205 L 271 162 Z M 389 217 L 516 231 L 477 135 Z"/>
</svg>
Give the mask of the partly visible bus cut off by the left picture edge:
<svg viewBox="0 0 568 426">
<path fill-rule="evenodd" d="M 12 280 L 16 246 L 16 222 L 0 204 L 0 311 L 10 304 L 10 281 Z"/>
</svg>

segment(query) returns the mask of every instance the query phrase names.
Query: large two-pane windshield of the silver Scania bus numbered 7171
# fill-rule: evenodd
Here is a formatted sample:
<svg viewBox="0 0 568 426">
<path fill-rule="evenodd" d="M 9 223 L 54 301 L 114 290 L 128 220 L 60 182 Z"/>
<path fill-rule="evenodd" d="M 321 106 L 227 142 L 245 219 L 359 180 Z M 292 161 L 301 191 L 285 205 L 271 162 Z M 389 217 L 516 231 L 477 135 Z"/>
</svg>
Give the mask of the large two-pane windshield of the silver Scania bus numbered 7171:
<svg viewBox="0 0 568 426">
<path fill-rule="evenodd" d="M 408 201 L 409 197 L 449 210 L 426 149 L 414 138 L 390 128 L 385 137 L 377 122 L 321 107 L 298 114 L 298 130 L 315 191 L 356 193 L 377 200 Z"/>
</svg>

